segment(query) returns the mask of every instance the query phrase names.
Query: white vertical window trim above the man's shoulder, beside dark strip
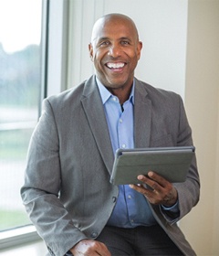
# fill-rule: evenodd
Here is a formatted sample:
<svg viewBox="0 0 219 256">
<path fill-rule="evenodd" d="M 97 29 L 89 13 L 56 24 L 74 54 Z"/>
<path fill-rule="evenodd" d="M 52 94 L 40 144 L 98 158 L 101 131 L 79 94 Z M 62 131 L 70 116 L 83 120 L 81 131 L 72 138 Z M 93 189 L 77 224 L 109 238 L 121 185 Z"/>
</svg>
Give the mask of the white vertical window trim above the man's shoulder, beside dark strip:
<svg viewBox="0 0 219 256">
<path fill-rule="evenodd" d="M 67 89 L 69 0 L 49 1 L 47 95 Z"/>
</svg>

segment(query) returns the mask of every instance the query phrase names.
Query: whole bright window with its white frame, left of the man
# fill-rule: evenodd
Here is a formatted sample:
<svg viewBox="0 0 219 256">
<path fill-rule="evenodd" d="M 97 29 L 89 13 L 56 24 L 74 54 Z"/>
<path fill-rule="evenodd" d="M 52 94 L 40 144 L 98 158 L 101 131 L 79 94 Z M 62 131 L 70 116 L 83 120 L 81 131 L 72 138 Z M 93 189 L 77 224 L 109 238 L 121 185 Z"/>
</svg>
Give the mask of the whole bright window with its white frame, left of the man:
<svg viewBox="0 0 219 256">
<path fill-rule="evenodd" d="M 67 89 L 69 3 L 0 0 L 0 254 L 39 239 L 20 187 L 42 99 Z"/>
</svg>

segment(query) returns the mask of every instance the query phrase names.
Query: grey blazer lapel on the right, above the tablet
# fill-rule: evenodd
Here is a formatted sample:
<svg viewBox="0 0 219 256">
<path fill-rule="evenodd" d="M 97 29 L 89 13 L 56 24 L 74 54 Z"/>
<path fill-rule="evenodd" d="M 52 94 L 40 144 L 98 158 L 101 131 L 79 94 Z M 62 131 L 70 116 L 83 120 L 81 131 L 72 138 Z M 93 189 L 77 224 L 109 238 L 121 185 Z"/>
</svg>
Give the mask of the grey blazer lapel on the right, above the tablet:
<svg viewBox="0 0 219 256">
<path fill-rule="evenodd" d="M 151 100 L 141 81 L 135 80 L 134 141 L 135 147 L 149 147 L 151 137 Z"/>
</svg>

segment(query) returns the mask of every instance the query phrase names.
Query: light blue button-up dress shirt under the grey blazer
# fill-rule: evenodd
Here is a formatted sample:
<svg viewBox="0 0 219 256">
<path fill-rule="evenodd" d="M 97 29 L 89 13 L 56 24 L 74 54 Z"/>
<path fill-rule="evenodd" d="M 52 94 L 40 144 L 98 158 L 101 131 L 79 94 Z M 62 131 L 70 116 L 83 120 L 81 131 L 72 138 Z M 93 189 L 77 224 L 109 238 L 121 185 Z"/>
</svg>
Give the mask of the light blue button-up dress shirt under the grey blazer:
<svg viewBox="0 0 219 256">
<path fill-rule="evenodd" d="M 118 148 L 134 148 L 133 110 L 134 83 L 130 99 L 120 106 L 119 99 L 112 95 L 97 79 L 100 96 L 110 131 L 110 140 L 115 154 Z M 123 111 L 122 111 L 123 108 Z M 120 228 L 151 226 L 156 223 L 146 198 L 129 185 L 120 185 L 117 204 L 108 225 Z"/>
</svg>

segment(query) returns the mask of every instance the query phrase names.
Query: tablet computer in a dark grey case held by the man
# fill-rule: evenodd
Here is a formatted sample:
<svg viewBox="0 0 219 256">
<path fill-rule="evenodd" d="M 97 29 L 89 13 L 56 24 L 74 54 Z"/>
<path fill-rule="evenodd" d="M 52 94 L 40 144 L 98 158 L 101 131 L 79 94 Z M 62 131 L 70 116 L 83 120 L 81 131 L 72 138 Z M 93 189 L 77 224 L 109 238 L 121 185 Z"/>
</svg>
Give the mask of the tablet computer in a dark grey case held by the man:
<svg viewBox="0 0 219 256">
<path fill-rule="evenodd" d="M 137 176 L 153 171 L 168 181 L 184 182 L 191 165 L 193 146 L 118 149 L 110 176 L 113 185 L 140 184 Z"/>
</svg>

